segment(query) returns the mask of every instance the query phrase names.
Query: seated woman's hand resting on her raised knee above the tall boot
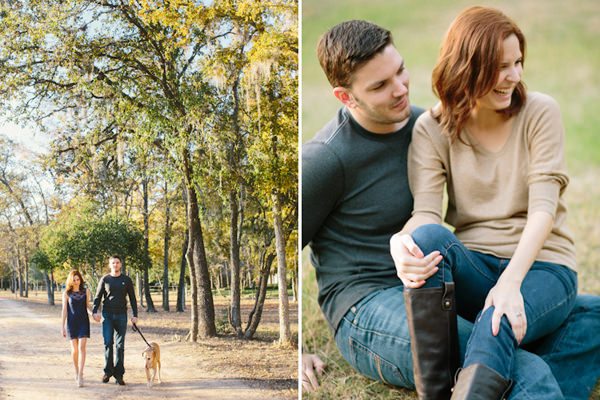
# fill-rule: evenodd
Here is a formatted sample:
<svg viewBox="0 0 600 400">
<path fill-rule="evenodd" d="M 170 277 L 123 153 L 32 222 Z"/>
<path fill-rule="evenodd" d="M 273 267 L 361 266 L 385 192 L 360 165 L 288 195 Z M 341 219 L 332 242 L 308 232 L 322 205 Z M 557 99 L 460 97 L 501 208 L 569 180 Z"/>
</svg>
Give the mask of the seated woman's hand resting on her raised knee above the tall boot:
<svg viewBox="0 0 600 400">
<path fill-rule="evenodd" d="M 407 288 L 423 286 L 425 280 L 438 271 L 437 264 L 442 260 L 439 251 L 425 256 L 412 236 L 402 232 L 391 237 L 390 253 L 396 265 L 396 274 Z"/>
</svg>

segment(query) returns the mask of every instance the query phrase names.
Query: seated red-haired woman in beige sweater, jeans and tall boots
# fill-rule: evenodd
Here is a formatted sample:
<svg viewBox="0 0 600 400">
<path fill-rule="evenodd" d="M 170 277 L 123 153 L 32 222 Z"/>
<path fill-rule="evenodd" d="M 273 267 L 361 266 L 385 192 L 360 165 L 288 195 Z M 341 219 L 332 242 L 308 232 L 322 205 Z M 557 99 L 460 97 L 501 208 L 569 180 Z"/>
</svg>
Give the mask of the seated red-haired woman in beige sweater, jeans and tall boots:
<svg viewBox="0 0 600 400">
<path fill-rule="evenodd" d="M 558 328 L 575 303 L 560 111 L 551 97 L 526 92 L 524 56 L 511 19 L 465 9 L 433 71 L 441 103 L 413 131 L 414 212 L 390 245 L 420 398 L 450 397 L 456 312 L 475 324 L 452 399 L 492 400 L 510 391 L 517 347 Z M 454 233 L 440 225 L 445 185 Z"/>
</svg>

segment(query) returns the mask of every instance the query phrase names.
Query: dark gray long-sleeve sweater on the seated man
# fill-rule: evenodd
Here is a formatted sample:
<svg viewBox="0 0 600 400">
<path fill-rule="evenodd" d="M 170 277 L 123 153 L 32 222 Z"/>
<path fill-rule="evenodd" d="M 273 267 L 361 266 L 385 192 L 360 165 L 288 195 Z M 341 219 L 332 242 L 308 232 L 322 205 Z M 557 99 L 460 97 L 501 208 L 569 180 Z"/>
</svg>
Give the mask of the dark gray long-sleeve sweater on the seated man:
<svg viewBox="0 0 600 400">
<path fill-rule="evenodd" d="M 399 131 L 374 134 L 342 107 L 302 146 L 302 246 L 310 243 L 329 327 L 368 294 L 402 282 L 390 237 L 410 218 L 407 151 L 421 108 Z"/>
</svg>

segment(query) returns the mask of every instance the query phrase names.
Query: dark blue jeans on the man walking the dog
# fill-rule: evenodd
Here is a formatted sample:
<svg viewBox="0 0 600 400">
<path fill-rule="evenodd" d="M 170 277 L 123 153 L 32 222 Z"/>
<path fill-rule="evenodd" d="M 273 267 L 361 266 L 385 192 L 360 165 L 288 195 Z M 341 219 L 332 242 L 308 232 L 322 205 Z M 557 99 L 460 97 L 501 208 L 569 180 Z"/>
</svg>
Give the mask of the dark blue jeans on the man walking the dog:
<svg viewBox="0 0 600 400">
<path fill-rule="evenodd" d="M 123 378 L 125 373 L 125 333 L 127 314 L 102 312 L 102 337 L 104 338 L 104 374 Z M 113 336 L 117 349 L 116 363 L 113 362 Z"/>
</svg>

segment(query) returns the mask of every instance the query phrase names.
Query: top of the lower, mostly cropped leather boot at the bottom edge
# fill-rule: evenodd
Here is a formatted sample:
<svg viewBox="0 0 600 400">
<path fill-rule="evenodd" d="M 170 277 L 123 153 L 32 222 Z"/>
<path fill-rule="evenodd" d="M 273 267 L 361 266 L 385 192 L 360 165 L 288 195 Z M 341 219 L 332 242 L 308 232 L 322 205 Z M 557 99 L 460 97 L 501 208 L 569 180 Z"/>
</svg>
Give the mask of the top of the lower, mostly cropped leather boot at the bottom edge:
<svg viewBox="0 0 600 400">
<path fill-rule="evenodd" d="M 452 400 L 504 400 L 512 390 L 513 381 L 485 364 L 471 364 L 458 373 L 452 389 Z"/>
</svg>

